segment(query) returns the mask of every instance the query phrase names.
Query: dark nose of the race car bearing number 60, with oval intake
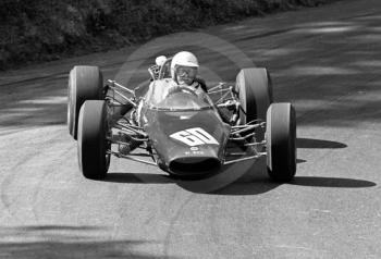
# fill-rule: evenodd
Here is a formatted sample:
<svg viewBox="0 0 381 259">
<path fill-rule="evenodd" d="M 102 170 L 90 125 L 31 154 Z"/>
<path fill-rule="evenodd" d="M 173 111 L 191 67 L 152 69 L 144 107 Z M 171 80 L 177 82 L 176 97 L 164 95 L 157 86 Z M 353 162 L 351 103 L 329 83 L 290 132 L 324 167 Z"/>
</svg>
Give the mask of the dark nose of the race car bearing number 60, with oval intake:
<svg viewBox="0 0 381 259">
<path fill-rule="evenodd" d="M 152 112 L 146 131 L 162 170 L 176 175 L 219 171 L 230 126 L 213 110 Z"/>
</svg>

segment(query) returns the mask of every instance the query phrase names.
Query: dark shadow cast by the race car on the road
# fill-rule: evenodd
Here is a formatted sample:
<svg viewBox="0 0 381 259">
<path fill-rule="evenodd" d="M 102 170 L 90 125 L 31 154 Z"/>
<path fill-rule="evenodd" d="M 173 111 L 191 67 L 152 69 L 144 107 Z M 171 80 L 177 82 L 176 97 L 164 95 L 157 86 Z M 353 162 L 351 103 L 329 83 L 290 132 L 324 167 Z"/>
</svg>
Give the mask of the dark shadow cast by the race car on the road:
<svg viewBox="0 0 381 259">
<path fill-rule="evenodd" d="M 297 138 L 297 148 L 335 149 L 346 148 L 343 143 L 315 139 Z M 304 159 L 297 159 L 297 163 L 306 163 Z M 271 182 L 266 170 L 266 158 L 236 163 L 233 166 L 224 166 L 222 172 L 206 178 L 182 181 L 163 174 L 152 173 L 123 173 L 110 172 L 106 182 L 128 184 L 176 184 L 184 189 L 201 194 L 219 195 L 257 195 L 269 192 L 280 185 Z M 324 177 L 296 177 L 292 182 L 295 185 L 324 186 L 324 187 L 369 187 L 370 182 L 361 182 L 345 178 Z M 331 186 L 330 186 L 331 185 Z M 376 185 L 376 184 L 374 184 Z"/>
</svg>

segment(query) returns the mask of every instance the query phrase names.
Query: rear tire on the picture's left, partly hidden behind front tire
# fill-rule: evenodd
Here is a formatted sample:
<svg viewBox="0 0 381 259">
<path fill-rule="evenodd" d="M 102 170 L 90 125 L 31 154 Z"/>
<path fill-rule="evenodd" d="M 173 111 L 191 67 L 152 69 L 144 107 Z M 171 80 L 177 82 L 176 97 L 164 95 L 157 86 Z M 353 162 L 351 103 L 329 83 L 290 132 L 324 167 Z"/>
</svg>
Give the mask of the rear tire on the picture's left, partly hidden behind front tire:
<svg viewBox="0 0 381 259">
<path fill-rule="evenodd" d="M 78 113 L 86 100 L 101 100 L 103 76 L 98 66 L 76 65 L 69 74 L 67 127 L 70 135 L 77 139 Z"/>
</svg>

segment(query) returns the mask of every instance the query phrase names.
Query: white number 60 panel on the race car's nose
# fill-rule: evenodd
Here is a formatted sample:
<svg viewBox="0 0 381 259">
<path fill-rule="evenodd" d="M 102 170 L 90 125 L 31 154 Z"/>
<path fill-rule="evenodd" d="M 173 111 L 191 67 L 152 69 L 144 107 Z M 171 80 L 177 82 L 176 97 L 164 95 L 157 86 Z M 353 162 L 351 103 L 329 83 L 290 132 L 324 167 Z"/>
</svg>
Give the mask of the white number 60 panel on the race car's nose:
<svg viewBox="0 0 381 259">
<path fill-rule="evenodd" d="M 194 128 L 176 132 L 171 134 L 170 137 L 176 140 L 180 140 L 190 147 L 207 145 L 207 144 L 219 145 L 219 143 L 216 140 L 216 138 L 212 135 L 210 135 L 209 133 L 207 133 L 200 127 L 194 127 Z"/>
</svg>

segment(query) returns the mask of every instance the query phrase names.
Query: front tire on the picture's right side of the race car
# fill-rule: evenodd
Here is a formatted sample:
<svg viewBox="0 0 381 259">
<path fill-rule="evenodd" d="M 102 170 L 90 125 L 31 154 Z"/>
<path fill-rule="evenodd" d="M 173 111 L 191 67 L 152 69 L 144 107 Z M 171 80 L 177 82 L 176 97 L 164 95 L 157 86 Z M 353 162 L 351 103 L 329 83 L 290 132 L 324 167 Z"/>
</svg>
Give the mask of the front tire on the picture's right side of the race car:
<svg viewBox="0 0 381 259">
<path fill-rule="evenodd" d="M 267 169 L 275 182 L 296 173 L 296 119 L 291 103 L 272 103 L 267 112 Z"/>
</svg>

